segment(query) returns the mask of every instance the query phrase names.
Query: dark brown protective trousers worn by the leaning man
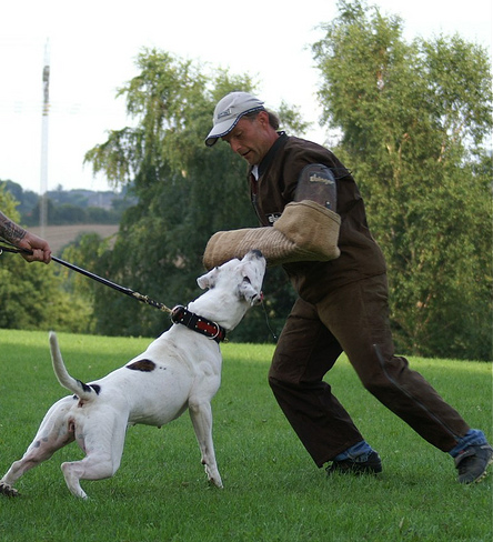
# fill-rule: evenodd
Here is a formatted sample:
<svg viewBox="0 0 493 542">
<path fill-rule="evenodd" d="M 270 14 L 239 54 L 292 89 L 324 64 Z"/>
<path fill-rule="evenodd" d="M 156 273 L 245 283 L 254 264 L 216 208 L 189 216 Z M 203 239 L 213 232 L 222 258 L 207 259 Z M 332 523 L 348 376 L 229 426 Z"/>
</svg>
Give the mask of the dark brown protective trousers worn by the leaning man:
<svg viewBox="0 0 493 542">
<path fill-rule="evenodd" d="M 394 355 L 386 275 L 346 284 L 312 305 L 299 299 L 279 339 L 269 383 L 318 466 L 364 438 L 322 381 L 345 352 L 364 388 L 423 439 L 447 452 L 469 425 Z"/>
</svg>

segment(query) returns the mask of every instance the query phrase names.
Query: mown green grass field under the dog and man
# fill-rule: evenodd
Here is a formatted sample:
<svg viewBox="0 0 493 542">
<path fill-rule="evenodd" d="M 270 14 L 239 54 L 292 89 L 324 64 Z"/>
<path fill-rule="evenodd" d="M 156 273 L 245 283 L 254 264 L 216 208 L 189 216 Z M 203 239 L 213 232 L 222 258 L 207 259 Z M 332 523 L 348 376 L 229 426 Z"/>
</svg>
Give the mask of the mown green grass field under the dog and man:
<svg viewBox="0 0 493 542">
<path fill-rule="evenodd" d="M 70 372 L 94 380 L 141 352 L 148 339 L 59 334 Z M 64 394 L 46 333 L 0 330 L 0 475 L 26 450 L 48 408 Z M 0 499 L 0 540 L 14 542 L 345 542 L 492 540 L 492 474 L 456 483 L 452 459 L 378 403 L 346 360 L 330 373 L 338 398 L 384 462 L 380 479 L 334 476 L 314 466 L 283 418 L 266 373 L 271 345 L 224 344 L 213 401 L 224 490 L 209 488 L 185 414 L 129 429 L 114 478 L 83 482 L 73 498 L 60 464 L 76 445 L 19 480 Z M 412 359 L 442 397 L 491 440 L 491 364 Z"/>
</svg>

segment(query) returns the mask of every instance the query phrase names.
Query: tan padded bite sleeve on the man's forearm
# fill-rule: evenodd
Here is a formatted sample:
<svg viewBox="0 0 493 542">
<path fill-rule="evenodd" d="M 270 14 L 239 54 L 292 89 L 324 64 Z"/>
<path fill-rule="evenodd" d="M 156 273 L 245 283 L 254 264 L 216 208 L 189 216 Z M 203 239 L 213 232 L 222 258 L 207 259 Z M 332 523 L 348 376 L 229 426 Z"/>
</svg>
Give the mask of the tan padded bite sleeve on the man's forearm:
<svg viewBox="0 0 493 542">
<path fill-rule="evenodd" d="M 214 233 L 205 247 L 203 263 L 211 269 L 232 258 L 243 258 L 252 249 L 260 250 L 269 265 L 334 260 L 340 255 L 340 224 L 339 214 L 314 201 L 291 202 L 273 228 Z"/>
</svg>

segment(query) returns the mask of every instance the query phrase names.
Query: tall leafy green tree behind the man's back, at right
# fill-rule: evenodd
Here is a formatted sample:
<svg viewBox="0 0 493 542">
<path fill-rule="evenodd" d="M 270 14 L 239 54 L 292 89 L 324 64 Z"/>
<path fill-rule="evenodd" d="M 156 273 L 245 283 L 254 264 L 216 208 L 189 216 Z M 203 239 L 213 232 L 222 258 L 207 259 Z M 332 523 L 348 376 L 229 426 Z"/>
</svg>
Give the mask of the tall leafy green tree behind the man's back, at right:
<svg viewBox="0 0 493 542">
<path fill-rule="evenodd" d="M 339 8 L 313 46 L 319 96 L 388 260 L 396 344 L 491 359 L 487 54 L 459 36 L 409 44 L 400 18 Z"/>
</svg>

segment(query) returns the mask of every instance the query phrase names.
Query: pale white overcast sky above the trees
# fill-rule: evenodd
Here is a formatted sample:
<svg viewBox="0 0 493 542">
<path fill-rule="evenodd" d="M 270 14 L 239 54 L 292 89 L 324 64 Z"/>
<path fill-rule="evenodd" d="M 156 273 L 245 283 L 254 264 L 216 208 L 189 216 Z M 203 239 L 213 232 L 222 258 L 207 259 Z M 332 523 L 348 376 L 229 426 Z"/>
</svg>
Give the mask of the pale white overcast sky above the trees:
<svg viewBox="0 0 493 542">
<path fill-rule="evenodd" d="M 491 58 L 491 0 L 369 0 L 403 19 L 404 38 L 459 33 Z M 336 0 L 16 0 L 0 4 L 0 180 L 24 190 L 111 190 L 83 165 L 110 130 L 129 126 L 117 90 L 138 74 L 142 48 L 158 48 L 209 69 L 249 73 L 275 110 L 298 106 L 313 123 L 306 138 L 324 143 L 320 83 L 310 46 Z M 42 120 L 42 70 L 50 64 L 50 111 Z M 212 111 L 211 111 L 212 121 Z M 207 134 L 198 134 L 204 138 Z M 42 151 L 44 142 L 46 151 Z M 46 157 L 42 159 L 42 157 Z"/>
</svg>

